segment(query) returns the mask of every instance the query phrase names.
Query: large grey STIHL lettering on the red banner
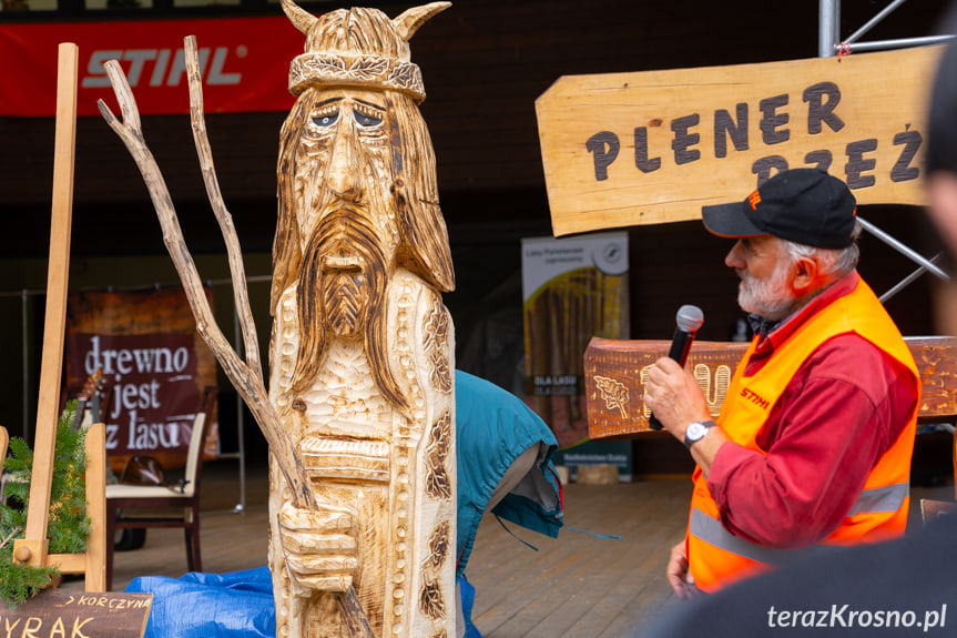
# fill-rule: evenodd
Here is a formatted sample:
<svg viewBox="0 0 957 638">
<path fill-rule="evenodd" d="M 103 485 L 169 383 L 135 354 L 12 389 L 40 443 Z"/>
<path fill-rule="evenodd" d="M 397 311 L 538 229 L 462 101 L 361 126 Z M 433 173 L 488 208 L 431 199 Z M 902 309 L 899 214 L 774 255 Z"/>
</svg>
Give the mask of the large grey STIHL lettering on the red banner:
<svg viewBox="0 0 957 638">
<path fill-rule="evenodd" d="M 212 52 L 212 62 L 210 61 Z M 247 49 L 238 45 L 233 51 L 232 58 L 245 58 Z M 203 83 L 238 84 L 243 79 L 242 73 L 226 72 L 230 60 L 230 47 L 208 47 L 198 50 L 200 72 Z M 186 58 L 183 49 L 126 49 L 126 50 L 99 50 L 90 54 L 86 64 L 86 74 L 80 82 L 83 89 L 110 88 L 110 78 L 103 62 L 120 60 L 129 62 L 126 80 L 130 87 L 136 88 L 145 79 L 150 87 L 179 87 L 186 82 Z M 124 64 L 125 68 L 125 64 Z"/>
</svg>

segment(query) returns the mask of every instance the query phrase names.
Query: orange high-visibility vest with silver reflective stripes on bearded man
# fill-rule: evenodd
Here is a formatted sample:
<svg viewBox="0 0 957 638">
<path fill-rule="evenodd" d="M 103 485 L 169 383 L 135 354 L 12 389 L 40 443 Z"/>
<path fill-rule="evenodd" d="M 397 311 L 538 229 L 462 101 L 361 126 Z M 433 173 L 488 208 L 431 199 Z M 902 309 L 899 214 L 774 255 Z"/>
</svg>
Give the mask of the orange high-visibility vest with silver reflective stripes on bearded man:
<svg viewBox="0 0 957 638">
<path fill-rule="evenodd" d="M 819 345 L 848 332 L 861 335 L 906 366 L 914 375 L 919 392 L 920 377 L 910 350 L 874 292 L 858 279 L 853 292 L 811 316 L 775 350 L 756 374 L 747 377 L 744 371 L 757 344 L 755 337 L 737 365 L 717 417 L 717 424 L 729 438 L 749 449 L 767 454 L 757 446 L 757 436 L 778 397 L 804 361 Z M 849 545 L 884 540 L 904 533 L 910 502 L 910 456 L 918 405 L 919 401 L 915 402 L 907 426 L 871 469 L 851 512 L 822 543 Z M 695 467 L 692 480 L 694 493 L 685 543 L 691 575 L 701 589 L 713 591 L 791 561 L 805 555 L 806 549 L 813 549 L 770 548 L 732 535 L 721 525 L 717 504 L 707 489 L 707 480 L 700 467 Z"/>
</svg>

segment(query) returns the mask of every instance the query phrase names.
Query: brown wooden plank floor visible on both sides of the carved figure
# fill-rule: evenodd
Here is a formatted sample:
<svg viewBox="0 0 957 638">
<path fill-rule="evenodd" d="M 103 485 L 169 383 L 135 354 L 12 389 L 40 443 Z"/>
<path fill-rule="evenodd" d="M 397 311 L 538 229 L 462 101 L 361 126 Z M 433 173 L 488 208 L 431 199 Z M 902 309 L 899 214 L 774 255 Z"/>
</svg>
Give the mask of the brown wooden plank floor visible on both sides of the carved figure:
<svg viewBox="0 0 957 638">
<path fill-rule="evenodd" d="M 205 571 L 266 564 L 266 469 L 251 467 L 245 513 L 238 503 L 236 464 L 207 463 L 203 475 L 202 550 Z M 919 498 L 953 499 L 954 488 L 912 490 Z M 486 515 L 466 576 L 476 588 L 472 620 L 485 638 L 630 638 L 679 602 L 664 567 L 681 539 L 691 497 L 689 478 L 613 486 L 570 484 L 564 523 L 548 538 Z M 570 526 L 570 527 L 569 527 Z M 619 539 L 597 535 L 621 536 Z M 538 548 L 529 548 L 519 540 Z M 144 575 L 180 577 L 186 570 L 182 530 L 150 529 L 146 545 L 115 555 L 113 589 Z M 64 587 L 82 589 L 82 581 Z"/>
</svg>

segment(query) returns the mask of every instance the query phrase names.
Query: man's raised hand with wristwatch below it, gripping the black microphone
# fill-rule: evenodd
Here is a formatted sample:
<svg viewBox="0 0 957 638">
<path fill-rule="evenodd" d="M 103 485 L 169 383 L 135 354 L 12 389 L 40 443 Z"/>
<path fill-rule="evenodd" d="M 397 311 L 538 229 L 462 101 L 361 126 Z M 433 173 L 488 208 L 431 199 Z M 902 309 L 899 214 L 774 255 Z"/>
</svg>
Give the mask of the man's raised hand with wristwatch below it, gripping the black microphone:
<svg viewBox="0 0 957 638">
<path fill-rule="evenodd" d="M 669 357 L 658 359 L 648 371 L 644 404 L 679 440 L 684 440 L 689 424 L 711 418 L 698 381 Z"/>
</svg>

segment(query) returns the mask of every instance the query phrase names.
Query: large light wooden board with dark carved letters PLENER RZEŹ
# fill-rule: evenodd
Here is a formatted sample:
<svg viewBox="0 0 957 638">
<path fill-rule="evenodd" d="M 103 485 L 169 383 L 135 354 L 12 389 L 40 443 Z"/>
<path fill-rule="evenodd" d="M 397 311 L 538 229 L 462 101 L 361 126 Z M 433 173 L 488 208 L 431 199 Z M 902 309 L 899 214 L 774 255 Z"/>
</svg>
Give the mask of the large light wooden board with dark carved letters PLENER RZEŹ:
<svg viewBox="0 0 957 638">
<path fill-rule="evenodd" d="M 699 219 L 800 166 L 861 204 L 923 204 L 941 50 L 561 78 L 536 101 L 552 230 Z"/>
</svg>

